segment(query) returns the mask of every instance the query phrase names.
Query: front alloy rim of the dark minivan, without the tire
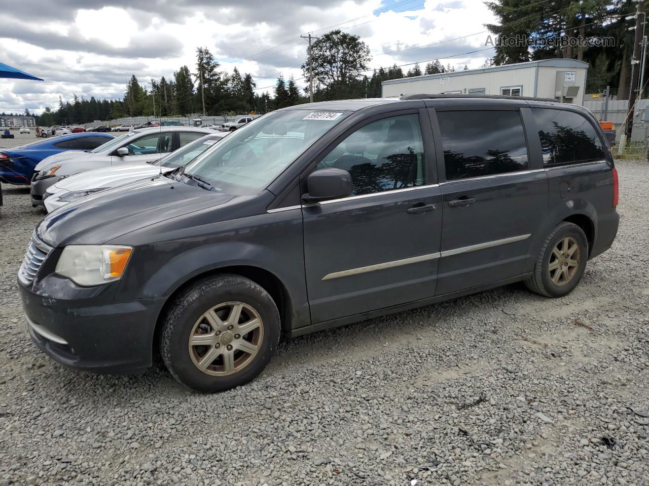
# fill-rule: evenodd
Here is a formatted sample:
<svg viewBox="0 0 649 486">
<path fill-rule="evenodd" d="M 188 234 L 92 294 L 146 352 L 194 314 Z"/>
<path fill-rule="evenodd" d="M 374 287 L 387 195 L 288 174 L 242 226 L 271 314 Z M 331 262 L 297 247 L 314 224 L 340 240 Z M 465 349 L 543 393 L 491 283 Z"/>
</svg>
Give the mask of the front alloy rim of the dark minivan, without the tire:
<svg viewBox="0 0 649 486">
<path fill-rule="evenodd" d="M 191 361 L 202 373 L 227 376 L 250 364 L 262 340 L 258 312 L 243 302 L 225 302 L 202 314 L 188 345 Z"/>
</svg>

